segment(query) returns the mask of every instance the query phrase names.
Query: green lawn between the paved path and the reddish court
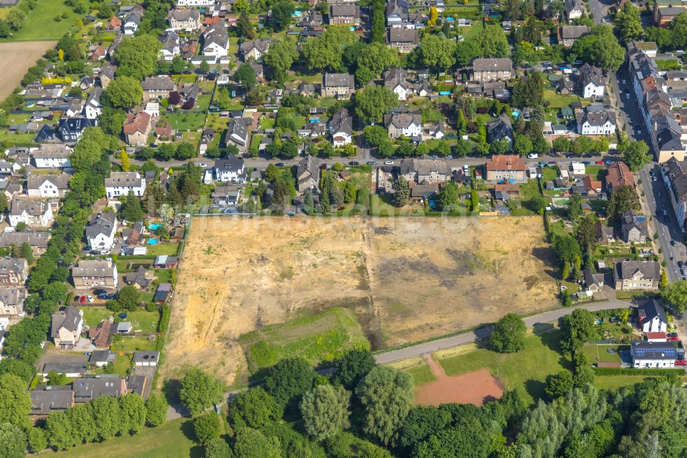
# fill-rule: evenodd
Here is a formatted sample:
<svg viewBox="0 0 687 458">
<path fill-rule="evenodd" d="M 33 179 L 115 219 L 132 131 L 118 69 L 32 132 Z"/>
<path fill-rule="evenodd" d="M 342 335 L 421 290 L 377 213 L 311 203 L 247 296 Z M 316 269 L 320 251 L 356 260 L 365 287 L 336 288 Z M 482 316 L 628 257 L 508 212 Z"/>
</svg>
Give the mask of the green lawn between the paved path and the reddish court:
<svg viewBox="0 0 687 458">
<path fill-rule="evenodd" d="M 501 354 L 487 349 L 437 360 L 447 375 L 460 375 L 488 368 L 501 379 L 507 389 L 517 389 L 528 404 L 544 395 L 546 377 L 564 367 L 570 360 L 561 356 L 560 331 L 526 338 L 525 349 L 518 353 Z"/>
</svg>

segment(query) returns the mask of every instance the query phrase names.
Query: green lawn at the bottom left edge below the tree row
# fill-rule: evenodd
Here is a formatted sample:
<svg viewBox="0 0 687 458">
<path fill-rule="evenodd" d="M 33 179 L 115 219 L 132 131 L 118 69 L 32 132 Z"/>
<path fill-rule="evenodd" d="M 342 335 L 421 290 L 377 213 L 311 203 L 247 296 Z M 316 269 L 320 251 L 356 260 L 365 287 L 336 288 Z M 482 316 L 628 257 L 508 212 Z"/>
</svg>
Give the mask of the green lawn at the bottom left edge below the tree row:
<svg viewBox="0 0 687 458">
<path fill-rule="evenodd" d="M 193 424 L 190 419 L 179 418 L 164 422 L 157 428 L 145 428 L 141 433 L 128 434 L 100 443 L 85 444 L 58 452 L 60 458 L 201 458 L 203 448 L 192 438 Z"/>
</svg>

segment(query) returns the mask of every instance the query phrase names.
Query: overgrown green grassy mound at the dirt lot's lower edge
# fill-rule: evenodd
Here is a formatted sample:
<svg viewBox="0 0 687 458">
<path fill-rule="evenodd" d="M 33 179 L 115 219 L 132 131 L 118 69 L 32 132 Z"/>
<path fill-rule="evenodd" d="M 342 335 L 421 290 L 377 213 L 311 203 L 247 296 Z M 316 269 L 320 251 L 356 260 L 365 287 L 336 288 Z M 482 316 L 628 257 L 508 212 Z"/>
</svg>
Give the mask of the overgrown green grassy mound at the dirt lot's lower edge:
<svg viewBox="0 0 687 458">
<path fill-rule="evenodd" d="M 346 350 L 369 349 L 354 312 L 335 307 L 321 314 L 261 327 L 240 336 L 251 369 L 301 356 L 311 363 L 334 360 Z"/>
</svg>

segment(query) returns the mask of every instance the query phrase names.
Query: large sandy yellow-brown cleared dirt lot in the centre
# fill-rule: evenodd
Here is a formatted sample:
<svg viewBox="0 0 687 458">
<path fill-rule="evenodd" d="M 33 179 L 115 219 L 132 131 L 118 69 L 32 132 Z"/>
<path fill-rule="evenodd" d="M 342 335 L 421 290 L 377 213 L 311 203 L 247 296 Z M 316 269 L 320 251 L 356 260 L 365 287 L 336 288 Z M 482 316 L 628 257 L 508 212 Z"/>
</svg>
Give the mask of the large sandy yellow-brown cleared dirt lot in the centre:
<svg viewBox="0 0 687 458">
<path fill-rule="evenodd" d="M 350 307 L 373 349 L 554 303 L 540 217 L 194 217 L 172 305 L 166 376 L 233 382 L 262 325 Z"/>
</svg>

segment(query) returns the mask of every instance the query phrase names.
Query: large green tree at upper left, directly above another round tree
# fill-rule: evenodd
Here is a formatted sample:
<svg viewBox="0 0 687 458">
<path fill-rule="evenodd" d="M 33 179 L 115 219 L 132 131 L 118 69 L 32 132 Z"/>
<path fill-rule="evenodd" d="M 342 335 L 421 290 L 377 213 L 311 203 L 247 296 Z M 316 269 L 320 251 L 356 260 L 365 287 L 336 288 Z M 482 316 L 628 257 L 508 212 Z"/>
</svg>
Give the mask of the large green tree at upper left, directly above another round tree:
<svg viewBox="0 0 687 458">
<path fill-rule="evenodd" d="M 133 38 L 125 37 L 115 51 L 117 78 L 131 76 L 141 81 L 155 74 L 161 47 L 157 36 L 142 34 Z"/>
</svg>

